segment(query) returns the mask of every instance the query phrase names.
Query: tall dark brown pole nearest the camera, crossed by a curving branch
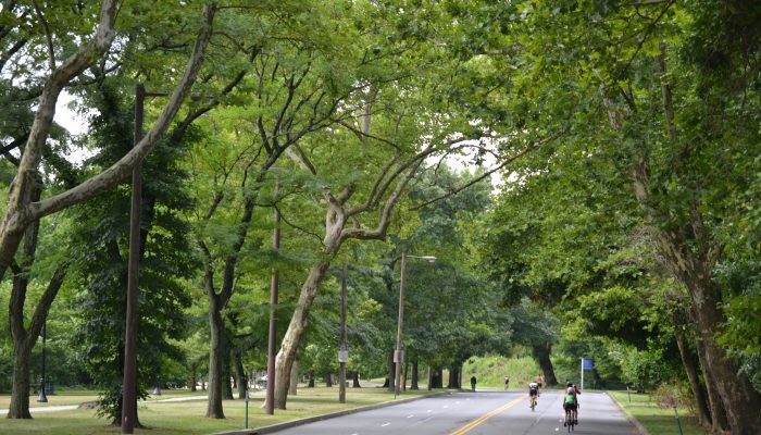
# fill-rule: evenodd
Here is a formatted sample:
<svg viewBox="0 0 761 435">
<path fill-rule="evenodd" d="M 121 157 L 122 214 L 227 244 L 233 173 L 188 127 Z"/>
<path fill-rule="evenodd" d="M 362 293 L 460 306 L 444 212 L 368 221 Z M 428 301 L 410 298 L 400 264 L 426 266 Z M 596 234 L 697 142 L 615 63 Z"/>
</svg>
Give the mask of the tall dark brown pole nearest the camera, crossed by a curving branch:
<svg viewBox="0 0 761 435">
<path fill-rule="evenodd" d="M 142 139 L 142 102 L 146 88 L 135 86 L 135 140 Z M 140 262 L 140 197 L 142 181 L 138 162 L 133 170 L 132 208 L 129 210 L 129 265 L 127 272 L 127 315 L 124 336 L 124 381 L 122 383 L 122 433 L 132 434 L 137 423 L 137 323 L 138 323 L 138 279 Z"/>
</svg>

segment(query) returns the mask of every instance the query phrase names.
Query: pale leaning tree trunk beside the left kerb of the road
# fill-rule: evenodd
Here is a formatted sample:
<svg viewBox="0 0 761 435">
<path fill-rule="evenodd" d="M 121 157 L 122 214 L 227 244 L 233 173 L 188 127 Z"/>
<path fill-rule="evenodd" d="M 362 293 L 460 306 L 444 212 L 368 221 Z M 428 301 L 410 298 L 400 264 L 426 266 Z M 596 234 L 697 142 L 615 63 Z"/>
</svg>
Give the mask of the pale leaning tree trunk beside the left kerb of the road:
<svg viewBox="0 0 761 435">
<path fill-rule="evenodd" d="M 286 409 L 290 385 L 290 369 L 294 366 L 301 335 L 307 327 L 309 310 L 312 308 L 314 297 L 317 296 L 317 290 L 320 289 L 320 283 L 325 277 L 325 272 L 327 272 L 329 265 L 329 261 L 312 265 L 307 281 L 301 286 L 299 301 L 296 304 L 294 315 L 290 318 L 288 331 L 283 337 L 283 344 L 275 360 L 275 408 L 277 409 Z"/>
</svg>

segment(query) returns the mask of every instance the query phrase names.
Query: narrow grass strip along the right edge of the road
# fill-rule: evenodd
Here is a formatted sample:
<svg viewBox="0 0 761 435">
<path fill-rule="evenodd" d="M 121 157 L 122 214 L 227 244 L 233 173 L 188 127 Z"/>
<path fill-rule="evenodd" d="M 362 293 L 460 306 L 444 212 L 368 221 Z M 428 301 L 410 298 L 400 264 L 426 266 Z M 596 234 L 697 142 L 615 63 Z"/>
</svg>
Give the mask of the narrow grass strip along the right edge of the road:
<svg viewBox="0 0 761 435">
<path fill-rule="evenodd" d="M 629 402 L 626 391 L 610 391 L 610 394 L 624 407 L 629 415 L 639 421 L 650 435 L 678 434 L 674 409 L 662 409 L 651 401 L 648 395 L 632 393 Z M 697 419 L 687 409 L 678 409 L 679 422 L 684 435 L 707 435 L 708 432 L 697 425 Z"/>
</svg>

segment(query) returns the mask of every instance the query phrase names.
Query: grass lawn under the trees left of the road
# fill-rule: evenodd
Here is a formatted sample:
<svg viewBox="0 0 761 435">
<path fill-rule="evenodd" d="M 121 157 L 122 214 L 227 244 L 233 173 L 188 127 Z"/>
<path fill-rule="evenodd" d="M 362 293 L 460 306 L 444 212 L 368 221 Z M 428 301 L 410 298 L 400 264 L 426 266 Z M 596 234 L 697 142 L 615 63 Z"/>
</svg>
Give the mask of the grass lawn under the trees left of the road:
<svg viewBox="0 0 761 435">
<path fill-rule="evenodd" d="M 425 395 L 428 391 L 404 393 L 401 398 Z M 202 391 L 198 391 L 202 394 Z M 169 396 L 169 395 L 167 395 Z M 338 388 L 300 388 L 298 396 L 288 398 L 288 409 L 275 410 L 274 415 L 264 414 L 261 408 L 263 398 L 255 397 L 249 401 L 249 427 L 261 427 L 285 421 L 320 415 L 344 409 L 359 408 L 367 405 L 394 400 L 394 395 L 384 388 L 347 388 L 347 402 L 338 403 Z M 163 395 L 162 395 L 163 397 Z M 183 402 L 144 402 L 139 406 L 140 422 L 146 430 L 136 428 L 136 434 L 211 434 L 223 431 L 244 428 L 246 402 L 244 400 L 225 400 L 225 420 L 204 418 L 205 400 Z M 0 434 L 50 434 L 50 435 L 101 435 L 120 434 L 120 427 L 109 426 L 104 420 L 95 417 L 92 410 L 73 410 L 59 412 L 33 413 L 33 420 L 7 420 L 0 417 Z"/>
</svg>

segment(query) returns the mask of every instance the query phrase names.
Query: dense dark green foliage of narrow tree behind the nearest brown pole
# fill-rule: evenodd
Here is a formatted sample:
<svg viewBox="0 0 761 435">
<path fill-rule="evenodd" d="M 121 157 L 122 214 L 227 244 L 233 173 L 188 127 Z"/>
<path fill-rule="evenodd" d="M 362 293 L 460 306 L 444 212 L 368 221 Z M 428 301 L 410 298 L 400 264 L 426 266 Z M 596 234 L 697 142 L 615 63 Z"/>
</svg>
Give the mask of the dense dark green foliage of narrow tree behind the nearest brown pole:
<svg viewBox="0 0 761 435">
<path fill-rule="evenodd" d="M 92 120 L 92 134 L 102 151 L 90 164 L 108 165 L 132 148 L 132 114 L 117 85 L 107 83 L 100 91 L 93 96 L 101 113 Z M 169 339 L 185 334 L 184 309 L 190 299 L 180 279 L 190 276 L 195 264 L 186 238 L 189 227 L 182 217 L 191 202 L 185 173 L 177 166 L 186 147 L 164 142 L 142 166 L 138 397 L 165 381 L 162 362 L 183 358 Z M 77 253 L 77 334 L 88 371 L 102 390 L 99 413 L 112 420 L 121 419 L 129 201 L 123 184 L 75 211 L 75 240 L 86 247 Z"/>
</svg>

